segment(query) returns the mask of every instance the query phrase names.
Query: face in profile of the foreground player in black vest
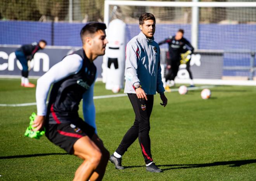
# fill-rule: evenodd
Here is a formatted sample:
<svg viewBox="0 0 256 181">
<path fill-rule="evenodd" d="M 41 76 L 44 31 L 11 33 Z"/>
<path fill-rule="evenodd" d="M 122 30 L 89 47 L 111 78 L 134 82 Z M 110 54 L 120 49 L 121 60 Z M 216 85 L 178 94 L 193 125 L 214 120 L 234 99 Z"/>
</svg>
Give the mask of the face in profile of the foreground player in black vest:
<svg viewBox="0 0 256 181">
<path fill-rule="evenodd" d="M 106 39 L 106 32 L 99 30 L 95 32 L 95 34 L 92 37 L 92 52 L 95 55 L 105 55 L 105 50 L 106 50 L 106 44 L 108 43 Z"/>
</svg>

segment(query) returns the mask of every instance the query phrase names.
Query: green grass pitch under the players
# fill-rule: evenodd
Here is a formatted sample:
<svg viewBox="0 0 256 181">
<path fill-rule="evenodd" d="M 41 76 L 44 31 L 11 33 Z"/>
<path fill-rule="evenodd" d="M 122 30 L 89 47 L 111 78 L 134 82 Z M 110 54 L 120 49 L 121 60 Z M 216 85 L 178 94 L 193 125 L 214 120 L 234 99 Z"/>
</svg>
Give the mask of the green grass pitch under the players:
<svg viewBox="0 0 256 181">
<path fill-rule="evenodd" d="M 104 180 L 256 180 L 256 87 L 216 86 L 208 100 L 200 92 L 166 93 L 166 108 L 155 96 L 151 149 L 163 173 L 145 171 L 136 140 L 123 156 L 126 169 L 116 170 L 109 162 Z M 95 84 L 95 96 L 109 94 L 104 84 Z M 19 79 L 0 79 L 0 104 L 28 102 L 35 102 L 35 88 L 20 87 Z M 126 96 L 94 102 L 99 137 L 112 154 L 133 123 L 130 101 Z M 45 136 L 24 137 L 33 111 L 36 106 L 0 107 L 0 180 L 72 180 L 81 159 Z"/>
</svg>

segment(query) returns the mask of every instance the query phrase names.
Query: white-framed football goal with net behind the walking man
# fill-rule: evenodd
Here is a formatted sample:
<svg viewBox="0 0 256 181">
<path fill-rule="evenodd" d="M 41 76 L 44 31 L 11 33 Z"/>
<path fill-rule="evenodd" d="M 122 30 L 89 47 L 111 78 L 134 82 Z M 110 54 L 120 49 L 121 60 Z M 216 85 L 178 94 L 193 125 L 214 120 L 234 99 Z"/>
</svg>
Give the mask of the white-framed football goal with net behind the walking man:
<svg viewBox="0 0 256 181">
<path fill-rule="evenodd" d="M 201 56 L 190 67 L 195 84 L 256 85 L 256 3 L 255 2 L 156 2 L 105 0 L 104 22 L 113 19 L 126 23 L 129 41 L 138 33 L 138 17 L 143 12 L 155 15 L 155 40 L 162 41 L 185 30 L 185 38 Z M 167 45 L 160 46 L 161 57 Z M 185 78 L 177 82 L 187 83 Z"/>
</svg>

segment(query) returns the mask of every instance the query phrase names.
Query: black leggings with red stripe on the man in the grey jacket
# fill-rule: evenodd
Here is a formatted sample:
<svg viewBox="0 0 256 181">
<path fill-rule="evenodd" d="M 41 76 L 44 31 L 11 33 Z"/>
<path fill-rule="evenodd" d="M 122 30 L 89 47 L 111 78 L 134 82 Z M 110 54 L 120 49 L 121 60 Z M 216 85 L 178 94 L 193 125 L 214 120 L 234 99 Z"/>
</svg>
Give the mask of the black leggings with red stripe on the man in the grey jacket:
<svg viewBox="0 0 256 181">
<path fill-rule="evenodd" d="M 116 149 L 116 152 L 119 155 L 123 155 L 130 145 L 138 138 L 145 163 L 149 164 L 153 161 L 150 150 L 149 119 L 153 108 L 154 95 L 147 95 L 147 101 L 138 99 L 136 94 L 128 94 L 128 97 L 133 106 L 135 121 L 131 128 L 126 132 L 118 149 Z"/>
</svg>

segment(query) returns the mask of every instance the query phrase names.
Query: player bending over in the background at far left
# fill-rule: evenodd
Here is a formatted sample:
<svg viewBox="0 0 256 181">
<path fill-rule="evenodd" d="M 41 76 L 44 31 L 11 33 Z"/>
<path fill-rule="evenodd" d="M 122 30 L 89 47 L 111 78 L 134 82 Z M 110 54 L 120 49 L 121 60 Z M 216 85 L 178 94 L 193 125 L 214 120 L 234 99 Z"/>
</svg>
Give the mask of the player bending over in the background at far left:
<svg viewBox="0 0 256 181">
<path fill-rule="evenodd" d="M 16 58 L 22 65 L 21 70 L 21 86 L 23 87 L 35 87 L 35 84 L 31 84 L 28 80 L 28 72 L 30 70 L 30 61 L 34 58 L 35 53 L 38 50 L 43 50 L 47 42 L 41 39 L 38 43 L 24 44 L 15 51 Z"/>
</svg>

